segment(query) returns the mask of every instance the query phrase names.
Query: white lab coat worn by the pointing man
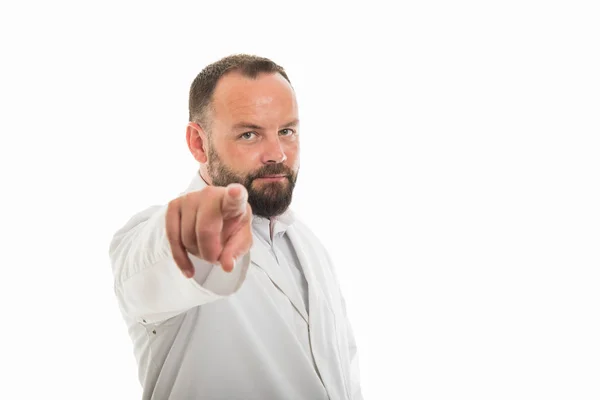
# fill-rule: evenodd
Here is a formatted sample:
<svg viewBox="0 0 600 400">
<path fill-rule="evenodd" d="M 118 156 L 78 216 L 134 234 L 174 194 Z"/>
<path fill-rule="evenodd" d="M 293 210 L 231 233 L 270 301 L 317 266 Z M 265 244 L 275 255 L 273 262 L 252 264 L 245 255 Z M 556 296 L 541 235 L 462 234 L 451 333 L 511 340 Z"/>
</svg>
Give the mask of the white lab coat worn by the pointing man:
<svg viewBox="0 0 600 400">
<path fill-rule="evenodd" d="M 196 174 L 186 192 L 205 185 Z M 210 273 L 202 282 L 186 279 L 172 259 L 165 212 L 166 205 L 137 214 L 110 246 L 144 399 L 362 399 L 333 265 L 302 222 L 287 234 L 308 282 L 308 314 L 259 240 L 231 273 L 191 256 Z"/>
</svg>

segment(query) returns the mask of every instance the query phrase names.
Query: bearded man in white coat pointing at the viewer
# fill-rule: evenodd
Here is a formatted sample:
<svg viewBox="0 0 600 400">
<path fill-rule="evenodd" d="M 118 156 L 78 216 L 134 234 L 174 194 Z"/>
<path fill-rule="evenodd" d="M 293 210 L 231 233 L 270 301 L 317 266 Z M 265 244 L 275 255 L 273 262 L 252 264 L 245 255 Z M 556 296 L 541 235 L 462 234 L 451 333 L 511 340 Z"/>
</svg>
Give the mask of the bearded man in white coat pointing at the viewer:
<svg viewBox="0 0 600 400">
<path fill-rule="evenodd" d="M 299 120 L 284 69 L 234 55 L 194 80 L 189 188 L 114 236 L 144 399 L 362 399 L 327 251 L 288 208 Z"/>
</svg>

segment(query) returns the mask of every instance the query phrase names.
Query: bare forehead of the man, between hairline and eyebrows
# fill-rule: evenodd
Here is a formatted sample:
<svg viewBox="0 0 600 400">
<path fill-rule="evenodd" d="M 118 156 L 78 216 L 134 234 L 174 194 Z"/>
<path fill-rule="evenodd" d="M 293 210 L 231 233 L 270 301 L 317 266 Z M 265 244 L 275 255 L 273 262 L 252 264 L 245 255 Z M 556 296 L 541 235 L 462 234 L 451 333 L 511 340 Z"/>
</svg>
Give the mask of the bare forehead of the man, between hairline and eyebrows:
<svg viewBox="0 0 600 400">
<path fill-rule="evenodd" d="M 223 76 L 214 91 L 217 119 L 297 118 L 294 90 L 278 73 L 261 73 L 249 78 L 239 72 Z"/>
</svg>

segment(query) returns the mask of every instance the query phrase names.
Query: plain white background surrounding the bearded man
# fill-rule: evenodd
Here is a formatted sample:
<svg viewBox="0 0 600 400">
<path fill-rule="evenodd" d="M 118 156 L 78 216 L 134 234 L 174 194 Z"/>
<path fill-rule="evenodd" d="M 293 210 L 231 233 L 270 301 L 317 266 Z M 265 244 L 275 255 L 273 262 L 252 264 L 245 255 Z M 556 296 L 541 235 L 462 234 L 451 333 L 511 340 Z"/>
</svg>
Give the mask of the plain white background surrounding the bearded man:
<svg viewBox="0 0 600 400">
<path fill-rule="evenodd" d="M 594 2 L 216 3 L 2 3 L 0 398 L 140 398 L 108 243 L 238 52 L 297 91 L 366 399 L 600 398 Z"/>
</svg>

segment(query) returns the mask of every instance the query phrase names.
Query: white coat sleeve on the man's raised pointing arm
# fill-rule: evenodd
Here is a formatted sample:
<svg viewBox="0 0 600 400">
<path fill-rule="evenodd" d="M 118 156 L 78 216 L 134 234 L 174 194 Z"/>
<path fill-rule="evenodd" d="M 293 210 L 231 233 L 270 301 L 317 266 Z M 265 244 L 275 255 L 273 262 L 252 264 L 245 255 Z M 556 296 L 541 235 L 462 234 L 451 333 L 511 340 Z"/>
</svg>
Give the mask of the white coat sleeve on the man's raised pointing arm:
<svg viewBox="0 0 600 400">
<path fill-rule="evenodd" d="M 195 274 L 183 276 L 166 234 L 167 205 L 136 214 L 113 236 L 109 256 L 114 290 L 124 316 L 159 323 L 188 309 L 235 293 L 246 278 L 250 253 L 232 272 L 189 255 Z"/>
</svg>

